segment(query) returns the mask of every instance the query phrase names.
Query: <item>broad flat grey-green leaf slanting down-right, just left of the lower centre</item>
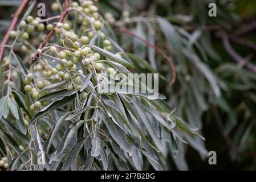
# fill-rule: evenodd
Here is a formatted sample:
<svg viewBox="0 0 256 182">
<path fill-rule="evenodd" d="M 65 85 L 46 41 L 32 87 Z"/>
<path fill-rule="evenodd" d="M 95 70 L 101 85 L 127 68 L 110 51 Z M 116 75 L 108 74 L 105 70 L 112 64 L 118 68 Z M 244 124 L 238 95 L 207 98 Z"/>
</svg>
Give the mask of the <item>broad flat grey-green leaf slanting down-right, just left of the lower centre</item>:
<svg viewBox="0 0 256 182">
<path fill-rule="evenodd" d="M 119 144 L 119 146 L 126 152 L 132 152 L 132 147 L 128 143 L 127 138 L 124 134 L 124 131 L 120 129 L 108 116 L 104 113 L 104 111 L 100 111 L 100 117 L 103 119 L 105 125 L 108 128 L 109 133 Z"/>
</svg>

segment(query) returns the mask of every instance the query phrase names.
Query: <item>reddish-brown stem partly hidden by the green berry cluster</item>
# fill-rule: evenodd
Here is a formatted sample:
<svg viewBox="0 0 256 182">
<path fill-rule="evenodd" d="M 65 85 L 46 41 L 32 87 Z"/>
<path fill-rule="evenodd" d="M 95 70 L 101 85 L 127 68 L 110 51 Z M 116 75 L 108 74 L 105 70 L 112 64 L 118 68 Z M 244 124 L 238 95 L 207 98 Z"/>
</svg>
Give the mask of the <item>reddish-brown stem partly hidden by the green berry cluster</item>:
<svg viewBox="0 0 256 182">
<path fill-rule="evenodd" d="M 60 15 L 60 19 L 59 22 L 63 23 L 65 17 L 68 14 L 68 6 L 69 6 L 69 2 L 68 0 L 65 0 L 65 9 L 62 12 L 62 14 Z M 48 35 L 46 36 L 46 38 L 44 39 L 44 41 L 42 43 L 40 43 L 38 49 L 42 49 L 44 46 L 46 46 L 46 44 L 48 44 L 48 42 L 50 42 L 50 39 L 52 37 L 52 35 L 54 35 L 55 30 L 54 28 L 48 33 Z M 39 55 L 38 53 L 35 53 L 35 55 L 32 57 L 32 62 L 35 62 L 38 59 Z"/>
</svg>

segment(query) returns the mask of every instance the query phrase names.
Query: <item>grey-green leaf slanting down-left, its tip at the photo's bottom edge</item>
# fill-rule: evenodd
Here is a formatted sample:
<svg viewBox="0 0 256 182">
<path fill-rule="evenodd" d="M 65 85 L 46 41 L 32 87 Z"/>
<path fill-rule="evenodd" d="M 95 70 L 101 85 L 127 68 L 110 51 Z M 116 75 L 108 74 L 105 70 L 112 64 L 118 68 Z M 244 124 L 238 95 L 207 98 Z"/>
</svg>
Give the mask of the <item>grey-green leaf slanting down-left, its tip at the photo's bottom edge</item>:
<svg viewBox="0 0 256 182">
<path fill-rule="evenodd" d="M 70 153 L 67 156 L 66 161 L 64 162 L 63 166 L 62 166 L 62 171 L 66 171 L 68 170 L 68 168 L 70 168 L 72 162 L 74 162 L 75 158 L 78 157 L 78 154 L 80 152 L 80 150 L 83 147 L 84 142 L 86 141 L 87 137 L 83 137 L 81 139 L 79 139 L 76 144 L 74 145 L 74 147 L 72 147 Z"/>
</svg>

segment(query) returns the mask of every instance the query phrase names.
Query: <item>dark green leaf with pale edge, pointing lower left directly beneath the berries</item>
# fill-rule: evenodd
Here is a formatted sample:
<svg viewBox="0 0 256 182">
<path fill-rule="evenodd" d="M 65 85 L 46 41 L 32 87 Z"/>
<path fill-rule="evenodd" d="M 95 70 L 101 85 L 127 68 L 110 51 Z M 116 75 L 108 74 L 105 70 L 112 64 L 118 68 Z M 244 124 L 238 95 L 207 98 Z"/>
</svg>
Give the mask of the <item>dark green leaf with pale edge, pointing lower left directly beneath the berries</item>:
<svg viewBox="0 0 256 182">
<path fill-rule="evenodd" d="M 74 99 L 75 99 L 75 94 L 73 94 L 71 96 L 63 97 L 60 100 L 56 100 L 56 101 L 52 102 L 46 108 L 44 108 L 43 110 L 39 111 L 39 113 L 36 113 L 34 115 L 34 117 L 30 121 L 30 125 L 34 125 L 34 123 L 37 121 L 37 119 L 43 117 L 44 115 L 46 115 L 48 113 L 51 113 L 52 111 L 58 109 L 59 107 L 66 105 L 68 102 L 71 102 Z"/>
</svg>

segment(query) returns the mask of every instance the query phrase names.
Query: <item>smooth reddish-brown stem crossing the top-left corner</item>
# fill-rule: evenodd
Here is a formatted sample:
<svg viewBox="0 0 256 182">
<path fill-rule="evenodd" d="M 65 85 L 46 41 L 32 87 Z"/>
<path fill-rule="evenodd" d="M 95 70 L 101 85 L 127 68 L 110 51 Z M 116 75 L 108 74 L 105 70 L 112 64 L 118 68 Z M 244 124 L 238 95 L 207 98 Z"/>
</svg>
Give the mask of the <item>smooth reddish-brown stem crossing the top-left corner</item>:
<svg viewBox="0 0 256 182">
<path fill-rule="evenodd" d="M 30 0 L 23 0 L 21 5 L 19 6 L 19 8 L 17 9 L 17 11 L 15 12 L 14 16 L 13 16 L 13 19 L 11 20 L 11 24 L 10 26 L 8 27 L 7 31 L 6 31 L 6 34 L 5 36 L 3 37 L 3 40 L 1 42 L 1 45 L 0 45 L 0 63 L 2 61 L 2 58 L 3 58 L 3 53 L 5 52 L 5 46 L 9 40 L 9 34 L 10 34 L 10 31 L 14 30 L 18 20 L 19 20 L 19 16 L 21 16 L 21 14 L 23 13 L 23 11 L 25 10 L 27 4 L 29 3 Z"/>
</svg>

